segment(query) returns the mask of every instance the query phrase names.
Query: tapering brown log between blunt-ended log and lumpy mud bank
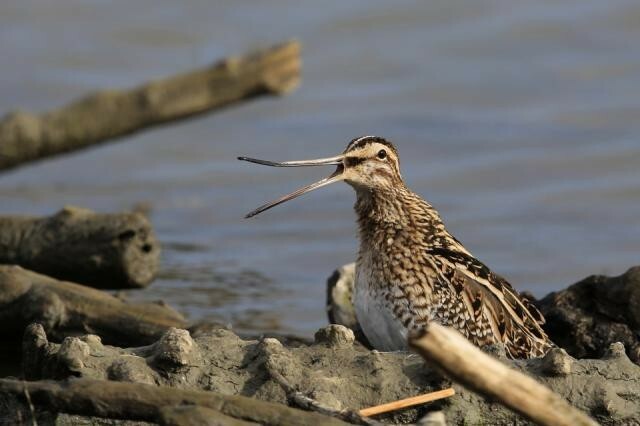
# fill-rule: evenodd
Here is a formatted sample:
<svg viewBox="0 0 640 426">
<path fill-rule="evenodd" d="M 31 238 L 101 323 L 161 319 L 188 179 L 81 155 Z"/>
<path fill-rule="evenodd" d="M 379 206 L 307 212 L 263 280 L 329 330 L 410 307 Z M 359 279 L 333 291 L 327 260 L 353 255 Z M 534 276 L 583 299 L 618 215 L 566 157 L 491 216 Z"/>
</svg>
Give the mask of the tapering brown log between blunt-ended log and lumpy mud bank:
<svg viewBox="0 0 640 426">
<path fill-rule="evenodd" d="M 1 337 L 16 339 L 33 322 L 55 339 L 94 333 L 125 346 L 152 343 L 170 327 L 186 325 L 167 306 L 126 303 L 100 290 L 0 265 Z"/>
</svg>

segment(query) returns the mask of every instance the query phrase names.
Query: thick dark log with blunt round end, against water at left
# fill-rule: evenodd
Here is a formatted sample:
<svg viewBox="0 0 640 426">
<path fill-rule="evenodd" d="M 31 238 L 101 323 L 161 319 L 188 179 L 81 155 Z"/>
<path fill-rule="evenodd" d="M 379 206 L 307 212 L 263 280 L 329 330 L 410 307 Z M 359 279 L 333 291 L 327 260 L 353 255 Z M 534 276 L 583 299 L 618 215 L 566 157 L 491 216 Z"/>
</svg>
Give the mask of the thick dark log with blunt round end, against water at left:
<svg viewBox="0 0 640 426">
<path fill-rule="evenodd" d="M 0 264 L 119 289 L 147 286 L 159 259 L 160 243 L 140 213 L 66 207 L 51 217 L 0 217 Z"/>
</svg>

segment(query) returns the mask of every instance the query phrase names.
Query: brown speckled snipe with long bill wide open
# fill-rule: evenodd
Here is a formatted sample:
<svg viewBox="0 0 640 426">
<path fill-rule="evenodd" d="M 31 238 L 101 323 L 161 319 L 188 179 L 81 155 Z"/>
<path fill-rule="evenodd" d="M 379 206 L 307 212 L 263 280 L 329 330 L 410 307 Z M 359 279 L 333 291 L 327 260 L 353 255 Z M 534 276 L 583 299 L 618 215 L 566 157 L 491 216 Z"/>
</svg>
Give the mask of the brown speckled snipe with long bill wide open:
<svg viewBox="0 0 640 426">
<path fill-rule="evenodd" d="M 541 357 L 554 346 L 533 303 L 476 259 L 436 209 L 407 187 L 398 150 L 387 139 L 358 137 L 342 154 L 314 160 L 238 159 L 274 167 L 337 166 L 247 218 L 335 182 L 353 187 L 360 244 L 352 297 L 374 349 L 407 350 L 408 336 L 430 322 L 456 329 L 479 347 L 502 344 L 510 358 Z"/>
</svg>

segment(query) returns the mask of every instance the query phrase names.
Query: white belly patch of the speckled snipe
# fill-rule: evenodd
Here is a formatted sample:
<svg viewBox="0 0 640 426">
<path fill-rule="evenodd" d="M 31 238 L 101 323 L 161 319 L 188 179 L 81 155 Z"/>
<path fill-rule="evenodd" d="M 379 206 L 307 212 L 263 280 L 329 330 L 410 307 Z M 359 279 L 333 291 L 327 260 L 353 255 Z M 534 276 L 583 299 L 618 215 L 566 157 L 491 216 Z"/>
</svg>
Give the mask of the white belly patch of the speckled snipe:
<svg viewBox="0 0 640 426">
<path fill-rule="evenodd" d="M 356 265 L 353 304 L 360 327 L 369 343 L 379 351 L 408 349 L 407 329 L 385 303 L 380 291 L 370 284 L 366 263 Z"/>
</svg>

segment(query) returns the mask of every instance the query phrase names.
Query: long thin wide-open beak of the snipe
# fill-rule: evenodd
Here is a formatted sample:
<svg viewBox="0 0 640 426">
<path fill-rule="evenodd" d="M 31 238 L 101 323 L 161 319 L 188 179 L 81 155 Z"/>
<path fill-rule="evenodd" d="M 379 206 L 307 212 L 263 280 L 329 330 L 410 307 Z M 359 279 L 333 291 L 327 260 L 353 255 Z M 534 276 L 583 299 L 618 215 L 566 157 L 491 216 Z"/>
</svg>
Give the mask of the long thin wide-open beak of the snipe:
<svg viewBox="0 0 640 426">
<path fill-rule="evenodd" d="M 265 210 L 269 210 L 271 207 L 275 207 L 278 204 L 282 204 L 285 201 L 293 200 L 301 196 L 302 194 L 306 194 L 307 192 L 311 192 L 314 189 L 322 188 L 323 186 L 330 185 L 334 182 L 338 182 L 342 180 L 342 172 L 344 171 L 344 165 L 342 160 L 344 160 L 344 155 L 337 155 L 335 157 L 329 158 L 318 158 L 316 160 L 302 160 L 302 161 L 267 161 L 267 160 L 258 160 L 257 158 L 249 158 L 249 157 L 238 157 L 238 160 L 249 161 L 250 163 L 263 164 L 265 166 L 272 167 L 305 167 L 305 166 L 338 166 L 335 172 L 330 174 L 324 179 L 320 179 L 317 182 L 312 183 L 311 185 L 304 186 L 302 188 L 296 189 L 291 194 L 283 195 L 282 197 L 273 200 L 269 203 L 263 204 L 252 212 L 248 213 L 245 218 L 253 217 L 259 213 L 262 213 Z"/>
</svg>

